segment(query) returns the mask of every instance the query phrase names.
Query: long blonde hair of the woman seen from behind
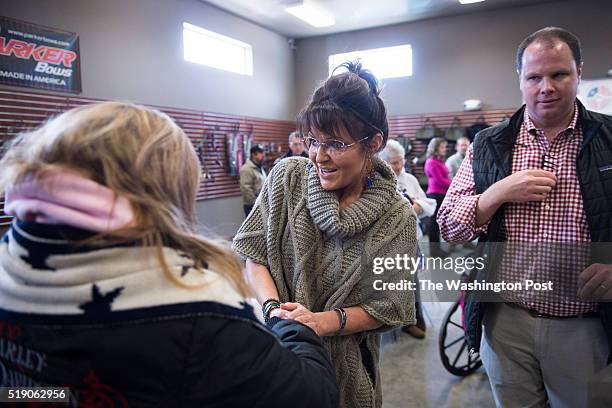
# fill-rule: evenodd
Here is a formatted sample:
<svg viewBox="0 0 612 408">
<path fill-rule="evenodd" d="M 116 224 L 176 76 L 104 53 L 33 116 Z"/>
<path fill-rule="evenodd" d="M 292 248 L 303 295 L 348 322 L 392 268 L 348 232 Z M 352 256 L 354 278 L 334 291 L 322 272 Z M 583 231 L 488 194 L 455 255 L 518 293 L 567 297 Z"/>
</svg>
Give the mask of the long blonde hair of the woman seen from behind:
<svg viewBox="0 0 612 408">
<path fill-rule="evenodd" d="M 2 190 L 58 168 L 83 174 L 127 198 L 135 214 L 133 226 L 100 234 L 93 242 L 129 237 L 154 246 L 166 275 L 188 287 L 164 258 L 163 247 L 174 248 L 197 268 L 209 264 L 248 295 L 238 258 L 221 242 L 197 235 L 200 163 L 188 137 L 166 114 L 120 102 L 76 108 L 20 135 L 0 168 Z"/>
</svg>

